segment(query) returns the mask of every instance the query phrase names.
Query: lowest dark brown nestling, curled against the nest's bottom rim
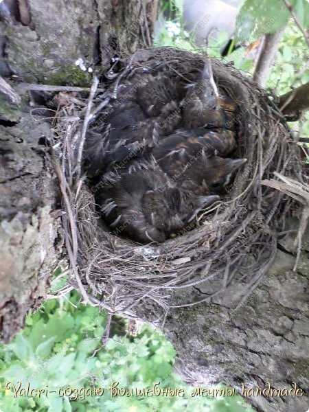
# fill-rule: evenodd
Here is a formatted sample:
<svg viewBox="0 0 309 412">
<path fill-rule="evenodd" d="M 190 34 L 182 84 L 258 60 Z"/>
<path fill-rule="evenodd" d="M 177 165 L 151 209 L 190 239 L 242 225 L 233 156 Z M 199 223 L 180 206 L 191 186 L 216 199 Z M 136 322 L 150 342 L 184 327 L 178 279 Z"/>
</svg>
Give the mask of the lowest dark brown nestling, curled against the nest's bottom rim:
<svg viewBox="0 0 309 412">
<path fill-rule="evenodd" d="M 218 199 L 176 187 L 154 161 L 133 161 L 95 192 L 111 229 L 140 243 L 163 242 Z"/>
</svg>

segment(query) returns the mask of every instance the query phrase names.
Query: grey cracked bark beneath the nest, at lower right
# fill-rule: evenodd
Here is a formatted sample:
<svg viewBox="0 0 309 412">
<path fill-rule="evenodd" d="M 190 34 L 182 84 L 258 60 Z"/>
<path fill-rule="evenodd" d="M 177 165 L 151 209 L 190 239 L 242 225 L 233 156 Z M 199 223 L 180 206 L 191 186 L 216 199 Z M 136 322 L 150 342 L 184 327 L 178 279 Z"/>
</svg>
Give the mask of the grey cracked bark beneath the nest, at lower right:
<svg viewBox="0 0 309 412">
<path fill-rule="evenodd" d="M 297 222 L 294 222 L 295 227 Z M 303 389 L 299 397 L 248 396 L 258 411 L 302 412 L 309 389 L 309 236 L 297 271 L 294 238 L 279 245 L 277 258 L 259 288 L 238 309 L 241 286 L 223 291 L 211 304 L 175 309 L 165 334 L 178 352 L 176 370 L 202 388 L 224 382 L 244 388 Z M 199 288 L 200 289 L 200 288 Z M 200 289 L 201 290 L 201 289 Z M 209 294 L 209 285 L 205 288 Z"/>
</svg>

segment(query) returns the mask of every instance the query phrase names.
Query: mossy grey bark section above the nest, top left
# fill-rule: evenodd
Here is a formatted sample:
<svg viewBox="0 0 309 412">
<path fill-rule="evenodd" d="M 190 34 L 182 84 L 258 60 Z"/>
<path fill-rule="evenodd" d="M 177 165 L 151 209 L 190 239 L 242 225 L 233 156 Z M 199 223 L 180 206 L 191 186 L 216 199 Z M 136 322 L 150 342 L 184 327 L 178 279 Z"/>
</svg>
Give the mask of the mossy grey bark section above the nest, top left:
<svg viewBox="0 0 309 412">
<path fill-rule="evenodd" d="M 16 73 L 25 82 L 82 85 L 91 77 L 76 67 L 78 58 L 87 67 L 104 66 L 115 52 L 135 52 L 141 45 L 150 45 L 148 33 L 158 1 L 26 3 L 27 19 L 22 17 L 21 1 L 5 0 L 0 5 L 0 74 Z"/>
</svg>

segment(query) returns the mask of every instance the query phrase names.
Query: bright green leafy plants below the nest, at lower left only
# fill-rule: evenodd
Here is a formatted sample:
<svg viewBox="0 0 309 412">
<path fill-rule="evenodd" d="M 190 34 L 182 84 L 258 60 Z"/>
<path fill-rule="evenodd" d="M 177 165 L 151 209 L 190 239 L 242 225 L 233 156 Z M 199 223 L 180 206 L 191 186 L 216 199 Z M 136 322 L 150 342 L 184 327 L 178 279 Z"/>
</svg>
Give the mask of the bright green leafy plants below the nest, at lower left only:
<svg viewBox="0 0 309 412">
<path fill-rule="evenodd" d="M 58 273 L 59 275 L 60 273 Z M 26 328 L 12 343 L 0 346 L 0 407 L 5 412 L 99 412 L 99 411 L 185 411 L 251 412 L 240 396 L 203 398 L 190 396 L 192 388 L 172 373 L 175 350 L 162 334 L 144 326 L 141 334 L 130 341 L 114 335 L 102 345 L 106 313 L 83 306 L 77 293 L 52 299 L 27 317 Z M 12 384 L 32 389 L 58 391 L 78 389 L 68 396 L 17 396 Z M 111 396 L 113 382 L 117 388 L 183 388 L 184 398 L 174 396 Z M 8 387 L 7 387 L 8 385 Z M 115 385 L 115 384 L 114 384 Z M 84 396 L 82 388 L 104 388 L 102 396 Z M 73 400 L 73 398 L 77 398 Z"/>
</svg>

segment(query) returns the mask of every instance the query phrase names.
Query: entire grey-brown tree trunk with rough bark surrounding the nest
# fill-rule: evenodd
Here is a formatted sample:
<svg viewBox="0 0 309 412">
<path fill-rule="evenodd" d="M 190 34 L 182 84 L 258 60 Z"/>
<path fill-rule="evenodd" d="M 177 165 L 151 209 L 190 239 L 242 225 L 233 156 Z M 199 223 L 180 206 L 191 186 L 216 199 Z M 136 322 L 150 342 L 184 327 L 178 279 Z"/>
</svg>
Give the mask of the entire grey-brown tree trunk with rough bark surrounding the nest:
<svg viewBox="0 0 309 412">
<path fill-rule="evenodd" d="M 89 86 L 91 75 L 76 60 L 107 68 L 111 57 L 150 45 L 157 1 L 4 0 L 0 10 L 2 76 Z M 0 325 L 8 341 L 45 299 L 48 278 L 66 252 L 58 181 L 40 144 L 50 126 L 29 114 L 27 95 L 19 108 L 0 99 Z M 308 395 L 308 250 L 307 240 L 293 272 L 293 251 L 282 244 L 268 276 L 239 310 L 231 308 L 240 286 L 211 304 L 170 310 L 163 330 L 185 380 L 204 387 L 224 382 L 240 391 L 242 382 L 246 389 L 295 382 Z M 209 285 L 200 290 L 209 293 Z M 249 401 L 265 412 L 305 412 L 306 394 Z"/>
</svg>

